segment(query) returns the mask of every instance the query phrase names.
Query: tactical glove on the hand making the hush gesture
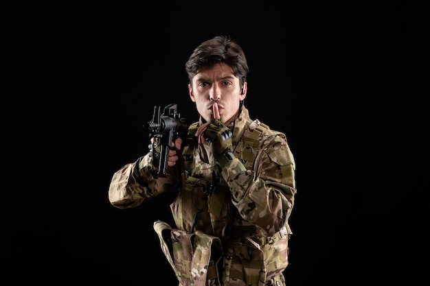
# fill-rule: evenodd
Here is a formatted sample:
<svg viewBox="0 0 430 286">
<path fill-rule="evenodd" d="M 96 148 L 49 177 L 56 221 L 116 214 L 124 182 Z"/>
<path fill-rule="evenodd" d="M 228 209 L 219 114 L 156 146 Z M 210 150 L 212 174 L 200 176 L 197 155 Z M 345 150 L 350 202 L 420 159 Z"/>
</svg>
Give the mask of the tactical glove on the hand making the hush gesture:
<svg viewBox="0 0 430 286">
<path fill-rule="evenodd" d="M 212 142 L 212 152 L 215 160 L 227 152 L 233 152 L 231 145 L 232 132 L 219 119 L 215 119 L 207 126 L 203 136 L 206 141 Z"/>
</svg>

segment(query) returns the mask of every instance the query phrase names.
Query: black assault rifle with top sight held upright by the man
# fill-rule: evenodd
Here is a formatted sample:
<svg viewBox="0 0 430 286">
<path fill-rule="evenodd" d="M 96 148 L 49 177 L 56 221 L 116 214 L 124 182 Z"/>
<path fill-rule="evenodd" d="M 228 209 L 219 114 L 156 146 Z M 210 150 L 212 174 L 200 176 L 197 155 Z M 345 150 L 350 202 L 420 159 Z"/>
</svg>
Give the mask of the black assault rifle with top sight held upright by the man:
<svg viewBox="0 0 430 286">
<path fill-rule="evenodd" d="M 161 106 L 154 106 L 152 120 L 144 123 L 144 128 L 150 130 L 150 152 L 155 176 L 166 177 L 171 144 L 177 136 L 185 136 L 188 132 L 186 119 L 181 118 L 177 108 L 177 104 L 169 104 L 161 113 Z"/>
</svg>

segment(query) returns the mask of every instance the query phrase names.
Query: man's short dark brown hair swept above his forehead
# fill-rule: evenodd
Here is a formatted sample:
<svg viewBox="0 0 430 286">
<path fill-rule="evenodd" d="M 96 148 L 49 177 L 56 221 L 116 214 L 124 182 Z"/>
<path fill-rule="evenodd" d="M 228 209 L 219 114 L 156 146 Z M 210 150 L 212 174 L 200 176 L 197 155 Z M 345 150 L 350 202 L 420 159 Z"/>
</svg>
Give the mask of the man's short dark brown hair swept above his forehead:
<svg viewBox="0 0 430 286">
<path fill-rule="evenodd" d="M 249 72 L 247 58 L 238 43 L 228 36 L 216 36 L 205 40 L 194 51 L 185 63 L 185 71 L 188 73 L 188 82 L 192 84 L 192 78 L 200 69 L 214 67 L 224 62 L 233 69 L 234 75 L 239 78 L 240 84 L 247 80 Z"/>
</svg>

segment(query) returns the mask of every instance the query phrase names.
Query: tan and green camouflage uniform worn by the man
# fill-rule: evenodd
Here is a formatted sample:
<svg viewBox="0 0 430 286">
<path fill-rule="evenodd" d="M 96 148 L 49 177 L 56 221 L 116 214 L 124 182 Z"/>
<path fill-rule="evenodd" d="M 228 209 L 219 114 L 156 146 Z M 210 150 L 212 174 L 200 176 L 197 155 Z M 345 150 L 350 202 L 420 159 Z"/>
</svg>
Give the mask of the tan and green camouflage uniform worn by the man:
<svg viewBox="0 0 430 286">
<path fill-rule="evenodd" d="M 235 123 L 233 154 L 223 170 L 210 143 L 199 145 L 192 124 L 181 160 L 166 178 L 153 178 L 149 155 L 112 178 L 109 200 L 117 208 L 139 206 L 174 187 L 176 226 L 155 222 L 161 249 L 179 285 L 286 285 L 288 218 L 294 205 L 295 162 L 286 137 L 243 107 Z"/>
</svg>

